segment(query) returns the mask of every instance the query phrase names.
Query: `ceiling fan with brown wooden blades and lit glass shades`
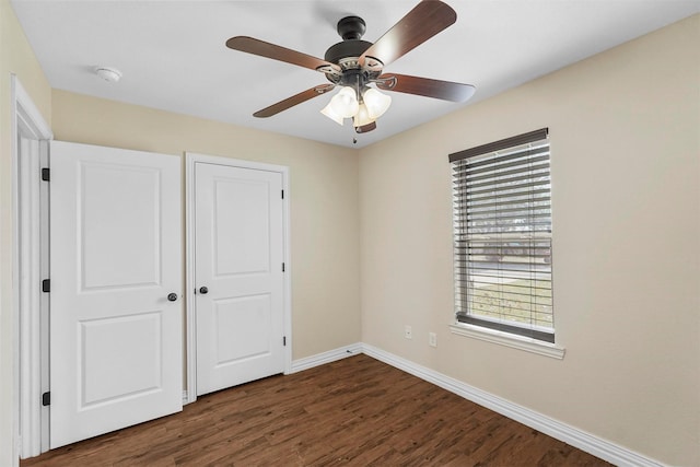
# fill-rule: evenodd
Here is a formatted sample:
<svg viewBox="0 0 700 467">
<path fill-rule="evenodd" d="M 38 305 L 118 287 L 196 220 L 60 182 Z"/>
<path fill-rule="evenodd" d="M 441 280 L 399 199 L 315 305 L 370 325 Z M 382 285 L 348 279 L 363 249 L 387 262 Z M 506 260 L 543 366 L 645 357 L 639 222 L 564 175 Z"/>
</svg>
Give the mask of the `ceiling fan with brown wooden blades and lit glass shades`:
<svg viewBox="0 0 700 467">
<path fill-rule="evenodd" d="M 376 128 L 376 119 L 388 108 L 392 98 L 382 91 L 416 94 L 452 102 L 466 102 L 476 87 L 471 84 L 384 73 L 384 67 L 406 55 L 457 21 L 457 13 L 439 0 L 422 0 L 374 44 L 362 40 L 365 22 L 346 16 L 338 22 L 342 42 L 326 50 L 324 59 L 247 36 L 231 37 L 226 47 L 273 60 L 319 71 L 330 83 L 319 84 L 253 114 L 271 117 L 336 86 L 340 91 L 320 110 L 342 125 L 352 118 L 358 133 Z"/>
</svg>

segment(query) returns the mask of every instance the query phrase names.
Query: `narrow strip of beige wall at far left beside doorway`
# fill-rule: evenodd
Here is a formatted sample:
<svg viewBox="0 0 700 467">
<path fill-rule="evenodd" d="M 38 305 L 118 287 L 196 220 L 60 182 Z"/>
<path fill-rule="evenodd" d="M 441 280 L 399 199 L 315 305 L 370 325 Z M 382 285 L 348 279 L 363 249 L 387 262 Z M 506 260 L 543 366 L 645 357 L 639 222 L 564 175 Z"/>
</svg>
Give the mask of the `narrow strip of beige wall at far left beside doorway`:
<svg viewBox="0 0 700 467">
<path fill-rule="evenodd" d="M 0 466 L 11 465 L 14 437 L 11 73 L 32 95 L 46 121 L 50 121 L 51 90 L 10 2 L 0 0 Z"/>
</svg>

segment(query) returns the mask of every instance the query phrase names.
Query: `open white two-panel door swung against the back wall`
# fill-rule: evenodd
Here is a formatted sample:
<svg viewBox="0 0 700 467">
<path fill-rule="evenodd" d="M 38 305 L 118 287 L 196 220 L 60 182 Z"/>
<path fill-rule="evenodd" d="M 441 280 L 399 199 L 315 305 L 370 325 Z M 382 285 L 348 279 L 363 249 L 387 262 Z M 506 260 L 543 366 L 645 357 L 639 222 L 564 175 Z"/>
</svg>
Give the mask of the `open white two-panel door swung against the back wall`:
<svg viewBox="0 0 700 467">
<path fill-rule="evenodd" d="M 182 410 L 180 160 L 55 141 L 49 190 L 55 448 Z"/>
</svg>

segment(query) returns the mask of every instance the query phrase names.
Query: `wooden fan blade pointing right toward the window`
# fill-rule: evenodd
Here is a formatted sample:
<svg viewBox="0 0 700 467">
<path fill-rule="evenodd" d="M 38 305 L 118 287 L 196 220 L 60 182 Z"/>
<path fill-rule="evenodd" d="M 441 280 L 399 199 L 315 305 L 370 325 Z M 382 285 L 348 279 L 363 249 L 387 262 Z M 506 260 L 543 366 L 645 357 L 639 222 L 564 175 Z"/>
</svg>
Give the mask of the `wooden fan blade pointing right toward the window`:
<svg viewBox="0 0 700 467">
<path fill-rule="evenodd" d="M 467 102 L 476 92 L 471 84 L 386 73 L 377 78 L 376 86 L 384 91 L 422 95 L 452 102 Z"/>
</svg>

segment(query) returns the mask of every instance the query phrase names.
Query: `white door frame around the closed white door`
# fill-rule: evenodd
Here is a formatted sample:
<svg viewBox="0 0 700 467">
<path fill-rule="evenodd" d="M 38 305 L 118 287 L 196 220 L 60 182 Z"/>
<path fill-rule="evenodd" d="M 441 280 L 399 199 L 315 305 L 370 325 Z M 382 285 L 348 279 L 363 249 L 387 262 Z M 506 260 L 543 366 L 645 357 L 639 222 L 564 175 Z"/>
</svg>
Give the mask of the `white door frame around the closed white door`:
<svg viewBox="0 0 700 467">
<path fill-rule="evenodd" d="M 186 287 L 185 299 L 187 306 L 187 394 L 184 395 L 185 404 L 197 400 L 197 310 L 195 306 L 195 164 L 207 163 L 223 165 L 229 167 L 250 168 L 257 171 L 278 172 L 282 175 L 282 189 L 284 198 L 282 200 L 282 257 L 284 261 L 284 279 L 283 279 L 283 332 L 287 337 L 287 346 L 284 347 L 284 374 L 291 373 L 292 369 L 292 267 L 290 258 L 290 196 L 289 196 L 289 167 L 283 165 L 265 164 L 260 162 L 250 162 L 240 159 L 221 157 L 213 155 L 197 154 L 192 152 L 185 153 L 185 243 L 186 243 Z"/>
</svg>

